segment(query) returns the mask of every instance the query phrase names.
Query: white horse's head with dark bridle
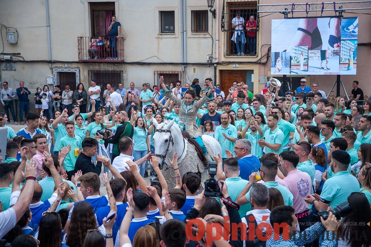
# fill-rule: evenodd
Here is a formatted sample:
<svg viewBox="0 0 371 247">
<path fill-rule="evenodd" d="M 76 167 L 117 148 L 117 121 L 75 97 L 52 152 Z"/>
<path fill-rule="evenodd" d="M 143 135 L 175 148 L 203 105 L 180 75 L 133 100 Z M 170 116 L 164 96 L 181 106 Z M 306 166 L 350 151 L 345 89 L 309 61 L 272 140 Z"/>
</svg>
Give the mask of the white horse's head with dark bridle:
<svg viewBox="0 0 371 247">
<path fill-rule="evenodd" d="M 165 123 L 157 123 L 157 121 L 154 120 L 152 121 L 152 123 L 156 128 L 156 132 L 153 135 L 153 140 L 155 142 L 155 154 L 156 156 L 158 156 L 159 164 L 161 166 L 162 161 L 164 158 L 166 158 L 165 156 L 167 155 L 167 153 L 171 153 L 174 147 L 173 138 L 176 129 L 171 128 L 173 127 L 174 119 L 171 121 L 166 121 Z"/>
</svg>

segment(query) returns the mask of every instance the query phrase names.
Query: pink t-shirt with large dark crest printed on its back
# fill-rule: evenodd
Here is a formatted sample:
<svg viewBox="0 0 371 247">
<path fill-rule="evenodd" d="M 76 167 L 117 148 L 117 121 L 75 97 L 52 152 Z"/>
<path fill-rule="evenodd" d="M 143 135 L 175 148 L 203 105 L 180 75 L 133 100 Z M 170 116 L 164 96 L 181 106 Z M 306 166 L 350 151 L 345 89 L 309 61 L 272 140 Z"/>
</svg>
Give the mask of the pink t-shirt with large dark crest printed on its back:
<svg viewBox="0 0 371 247">
<path fill-rule="evenodd" d="M 295 169 L 290 171 L 284 179 L 278 178 L 277 181 L 279 184 L 287 187 L 294 196 L 293 207 L 295 214 L 309 209 L 308 203 L 303 200 L 308 193 L 312 193 L 312 180 L 308 173 Z"/>
</svg>

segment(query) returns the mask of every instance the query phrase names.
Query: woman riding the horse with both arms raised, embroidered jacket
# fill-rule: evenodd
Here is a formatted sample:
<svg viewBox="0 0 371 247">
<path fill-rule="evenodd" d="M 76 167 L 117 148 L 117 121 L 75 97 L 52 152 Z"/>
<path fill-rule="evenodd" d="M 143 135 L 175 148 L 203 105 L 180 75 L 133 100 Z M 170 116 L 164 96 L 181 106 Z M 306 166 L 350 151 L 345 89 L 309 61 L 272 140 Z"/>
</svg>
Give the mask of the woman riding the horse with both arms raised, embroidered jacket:
<svg viewBox="0 0 371 247">
<path fill-rule="evenodd" d="M 213 161 L 201 138 L 202 133 L 200 128 L 198 128 L 196 125 L 196 114 L 198 109 L 200 109 L 201 106 L 203 106 L 203 104 L 205 104 L 207 101 L 213 99 L 213 95 L 211 94 L 213 85 L 211 82 L 209 80 L 206 81 L 206 84 L 210 90 L 200 100 L 195 100 L 196 92 L 193 89 L 188 89 L 185 91 L 183 100 L 179 99 L 173 94 L 173 92 L 170 90 L 170 87 L 165 86 L 163 76 L 160 77 L 160 84 L 162 87 L 161 93 L 164 94 L 165 97 L 170 98 L 170 100 L 173 100 L 174 105 L 178 105 L 180 107 L 179 126 L 183 126 L 183 129 L 181 130 L 187 131 L 189 136 L 200 144 L 207 161 Z"/>
</svg>

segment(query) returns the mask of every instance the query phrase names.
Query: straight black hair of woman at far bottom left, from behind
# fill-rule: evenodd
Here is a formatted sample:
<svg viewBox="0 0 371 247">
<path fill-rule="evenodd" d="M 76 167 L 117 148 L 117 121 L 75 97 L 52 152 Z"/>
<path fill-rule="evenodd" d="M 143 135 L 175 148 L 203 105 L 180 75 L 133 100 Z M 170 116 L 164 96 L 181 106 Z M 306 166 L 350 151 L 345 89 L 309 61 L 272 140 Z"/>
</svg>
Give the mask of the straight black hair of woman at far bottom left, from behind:
<svg viewBox="0 0 371 247">
<path fill-rule="evenodd" d="M 40 220 L 39 236 L 37 237 L 40 241 L 40 247 L 60 247 L 62 245 L 61 232 L 62 224 L 59 214 L 56 212 L 45 214 Z M 72 231 L 69 233 L 72 233 Z M 70 237 L 69 234 L 68 236 Z"/>
</svg>

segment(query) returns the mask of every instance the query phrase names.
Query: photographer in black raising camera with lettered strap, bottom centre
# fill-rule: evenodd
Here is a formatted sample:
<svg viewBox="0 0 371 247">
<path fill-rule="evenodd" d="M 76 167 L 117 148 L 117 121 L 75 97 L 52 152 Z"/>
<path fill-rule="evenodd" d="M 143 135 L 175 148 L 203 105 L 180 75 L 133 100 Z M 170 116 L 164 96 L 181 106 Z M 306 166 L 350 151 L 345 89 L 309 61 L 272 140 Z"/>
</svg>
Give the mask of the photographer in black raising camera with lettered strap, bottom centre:
<svg viewBox="0 0 371 247">
<path fill-rule="evenodd" d="M 223 184 L 223 186 L 222 186 Z M 220 188 L 220 192 L 223 195 L 224 198 L 227 198 L 231 200 L 228 194 L 228 188 L 226 186 L 226 183 L 224 181 L 218 181 L 218 186 Z M 201 208 L 206 202 L 206 198 L 204 197 L 205 191 L 203 191 L 201 194 L 199 194 L 195 200 L 194 200 L 194 207 L 191 208 L 187 216 L 185 217 L 184 222 L 187 222 L 187 220 L 195 219 L 198 217 L 198 214 L 200 213 Z M 234 224 L 240 224 L 241 223 L 241 217 L 240 214 L 238 213 L 237 208 L 230 206 L 227 203 L 224 203 L 226 210 L 228 211 L 228 216 L 229 216 L 229 225 L 231 226 L 233 223 Z M 208 214 L 206 215 L 203 219 L 197 218 L 197 220 L 201 220 L 204 224 L 206 224 L 206 221 L 212 221 L 212 222 L 219 222 L 220 224 L 224 224 L 224 218 L 221 216 L 215 216 L 214 214 Z M 228 224 L 228 223 L 227 223 Z M 197 225 L 197 224 L 194 224 Z M 206 226 L 204 226 L 204 229 L 206 229 Z M 215 229 L 215 228 L 214 228 Z M 230 231 L 231 229 L 229 229 Z M 219 234 L 218 234 L 219 235 Z M 237 240 L 236 240 L 237 236 Z M 209 236 L 215 238 L 215 235 Z M 187 245 L 187 247 L 193 247 L 193 246 L 206 246 L 205 242 L 206 239 L 208 238 L 207 234 L 205 234 L 205 237 L 203 239 L 199 240 L 198 242 L 196 241 L 190 241 Z M 223 234 L 221 234 L 220 239 L 214 240 L 213 244 L 214 246 L 224 246 L 223 244 L 226 244 L 226 246 L 232 246 L 232 247 L 240 247 L 243 246 L 242 240 L 241 240 L 241 228 L 239 227 L 237 230 L 237 234 L 230 234 L 230 240 L 227 242 L 223 239 Z"/>
</svg>

